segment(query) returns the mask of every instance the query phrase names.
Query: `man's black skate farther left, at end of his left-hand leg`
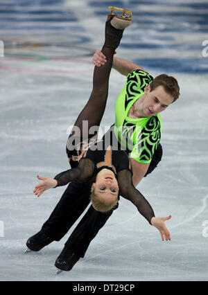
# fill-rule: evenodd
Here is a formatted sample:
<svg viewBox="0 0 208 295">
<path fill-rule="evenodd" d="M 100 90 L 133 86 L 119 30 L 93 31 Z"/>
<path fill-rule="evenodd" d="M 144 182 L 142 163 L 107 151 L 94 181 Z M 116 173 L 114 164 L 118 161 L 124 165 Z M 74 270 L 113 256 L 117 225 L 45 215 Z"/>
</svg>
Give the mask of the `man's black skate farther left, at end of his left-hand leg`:
<svg viewBox="0 0 208 295">
<path fill-rule="evenodd" d="M 40 249 L 44 248 L 54 240 L 52 238 L 49 238 L 44 231 L 39 231 L 35 235 L 33 235 L 31 238 L 28 238 L 26 242 L 26 246 L 28 249 L 25 251 L 40 251 Z"/>
</svg>

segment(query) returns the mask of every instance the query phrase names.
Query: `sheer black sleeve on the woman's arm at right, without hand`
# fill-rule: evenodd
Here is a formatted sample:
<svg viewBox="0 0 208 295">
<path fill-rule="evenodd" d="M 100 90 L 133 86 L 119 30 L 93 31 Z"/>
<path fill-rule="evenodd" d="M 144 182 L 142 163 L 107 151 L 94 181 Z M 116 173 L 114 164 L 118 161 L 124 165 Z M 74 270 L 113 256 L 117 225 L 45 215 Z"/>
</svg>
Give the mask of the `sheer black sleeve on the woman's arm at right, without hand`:
<svg viewBox="0 0 208 295">
<path fill-rule="evenodd" d="M 129 199 L 137 207 L 139 213 L 143 215 L 150 223 L 152 217 L 155 217 L 153 208 L 150 206 L 144 195 L 132 184 L 132 173 L 125 169 L 117 175 L 119 184 L 119 194 L 125 199 Z M 151 223 L 150 223 L 151 224 Z"/>
</svg>

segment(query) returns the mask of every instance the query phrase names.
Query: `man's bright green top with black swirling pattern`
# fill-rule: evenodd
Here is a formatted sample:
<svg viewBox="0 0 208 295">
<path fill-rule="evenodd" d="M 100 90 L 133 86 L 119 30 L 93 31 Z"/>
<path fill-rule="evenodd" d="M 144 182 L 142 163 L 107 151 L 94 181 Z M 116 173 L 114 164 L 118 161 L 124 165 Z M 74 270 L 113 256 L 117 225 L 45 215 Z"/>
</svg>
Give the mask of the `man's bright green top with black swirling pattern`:
<svg viewBox="0 0 208 295">
<path fill-rule="evenodd" d="M 123 148 L 140 163 L 150 163 L 161 138 L 160 114 L 146 118 L 129 118 L 130 107 L 143 94 L 153 77 L 144 71 L 128 74 L 125 87 L 116 100 L 114 133 Z"/>
</svg>

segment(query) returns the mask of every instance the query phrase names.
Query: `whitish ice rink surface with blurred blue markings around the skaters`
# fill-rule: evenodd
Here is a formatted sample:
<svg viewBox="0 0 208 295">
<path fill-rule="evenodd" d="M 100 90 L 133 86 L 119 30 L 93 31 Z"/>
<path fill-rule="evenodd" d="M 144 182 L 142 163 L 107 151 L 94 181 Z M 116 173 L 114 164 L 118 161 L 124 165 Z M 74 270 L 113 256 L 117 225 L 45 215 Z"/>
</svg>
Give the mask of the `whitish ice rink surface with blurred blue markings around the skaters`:
<svg viewBox="0 0 208 295">
<path fill-rule="evenodd" d="M 60 242 L 24 254 L 64 188 L 33 195 L 36 175 L 67 170 L 67 129 L 92 90 L 92 55 L 104 40 L 107 6 L 132 11 L 117 56 L 168 73 L 180 99 L 162 113 L 164 156 L 138 189 L 166 222 L 171 242 L 121 198 L 86 256 L 55 276 Z M 0 280 L 162 281 L 208 279 L 207 1 L 1 0 Z M 112 70 L 101 127 L 114 123 L 125 77 Z"/>
</svg>

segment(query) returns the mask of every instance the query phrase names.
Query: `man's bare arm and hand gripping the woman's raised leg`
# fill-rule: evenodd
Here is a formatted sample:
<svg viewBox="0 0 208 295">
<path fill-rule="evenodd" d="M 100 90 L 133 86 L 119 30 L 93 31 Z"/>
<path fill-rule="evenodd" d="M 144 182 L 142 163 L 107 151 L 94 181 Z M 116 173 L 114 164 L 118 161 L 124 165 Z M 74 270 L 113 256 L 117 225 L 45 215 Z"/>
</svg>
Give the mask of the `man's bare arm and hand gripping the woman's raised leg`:
<svg viewBox="0 0 208 295">
<path fill-rule="evenodd" d="M 115 52 L 116 54 L 116 52 Z M 105 55 L 102 53 L 102 51 L 97 50 L 92 58 L 92 62 L 96 66 L 103 66 L 105 62 L 107 62 Z M 112 68 L 121 73 L 121 75 L 127 76 L 128 73 L 131 71 L 134 71 L 136 69 L 139 69 L 141 71 L 145 71 L 141 66 L 138 64 L 135 64 L 134 62 L 130 62 L 128 60 L 123 60 L 122 58 L 115 57 L 113 59 Z"/>
</svg>

